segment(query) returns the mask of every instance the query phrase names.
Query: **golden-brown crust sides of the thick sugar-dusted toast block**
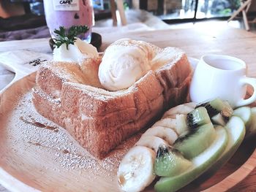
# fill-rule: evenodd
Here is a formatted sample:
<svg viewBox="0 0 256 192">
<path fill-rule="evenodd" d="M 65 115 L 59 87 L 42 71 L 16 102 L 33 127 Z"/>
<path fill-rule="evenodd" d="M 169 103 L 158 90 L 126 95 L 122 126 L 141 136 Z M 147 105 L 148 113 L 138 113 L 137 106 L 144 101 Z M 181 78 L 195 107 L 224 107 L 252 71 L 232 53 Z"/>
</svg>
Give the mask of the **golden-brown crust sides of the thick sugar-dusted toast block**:
<svg viewBox="0 0 256 192">
<path fill-rule="evenodd" d="M 103 158 L 124 139 L 153 123 L 167 108 L 186 101 L 192 69 L 187 55 L 149 71 L 130 88 L 102 89 L 100 58 L 82 65 L 50 61 L 37 72 L 37 112 L 67 129 L 86 150 Z"/>
</svg>

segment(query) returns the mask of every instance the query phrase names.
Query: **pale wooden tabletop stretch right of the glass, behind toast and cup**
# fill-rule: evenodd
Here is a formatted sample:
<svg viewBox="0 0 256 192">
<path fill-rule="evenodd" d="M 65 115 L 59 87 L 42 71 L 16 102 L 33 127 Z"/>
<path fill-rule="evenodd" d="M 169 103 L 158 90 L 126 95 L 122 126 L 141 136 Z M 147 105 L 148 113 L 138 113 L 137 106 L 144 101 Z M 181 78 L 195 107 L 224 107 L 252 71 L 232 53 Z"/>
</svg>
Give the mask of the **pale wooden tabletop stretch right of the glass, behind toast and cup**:
<svg viewBox="0 0 256 192">
<path fill-rule="evenodd" d="M 224 54 L 241 58 L 248 65 L 248 76 L 256 77 L 256 34 L 238 28 L 206 29 L 201 26 L 188 29 L 144 31 L 105 34 L 101 50 L 121 38 L 139 39 L 159 47 L 180 47 L 189 57 L 200 58 L 206 54 Z"/>
</svg>

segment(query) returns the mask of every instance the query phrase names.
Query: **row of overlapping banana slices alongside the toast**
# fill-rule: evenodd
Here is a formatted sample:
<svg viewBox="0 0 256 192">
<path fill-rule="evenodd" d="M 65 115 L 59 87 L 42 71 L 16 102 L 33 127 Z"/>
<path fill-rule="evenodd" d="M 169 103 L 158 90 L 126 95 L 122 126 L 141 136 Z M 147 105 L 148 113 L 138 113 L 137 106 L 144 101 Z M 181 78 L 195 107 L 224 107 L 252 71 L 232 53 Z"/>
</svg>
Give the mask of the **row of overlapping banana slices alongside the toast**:
<svg viewBox="0 0 256 192">
<path fill-rule="evenodd" d="M 118 184 L 123 191 L 143 191 L 154 178 L 154 161 L 160 145 L 173 145 L 178 136 L 187 132 L 186 115 L 195 103 L 181 104 L 165 112 L 163 118 L 140 137 L 124 155 L 118 167 Z"/>
</svg>

